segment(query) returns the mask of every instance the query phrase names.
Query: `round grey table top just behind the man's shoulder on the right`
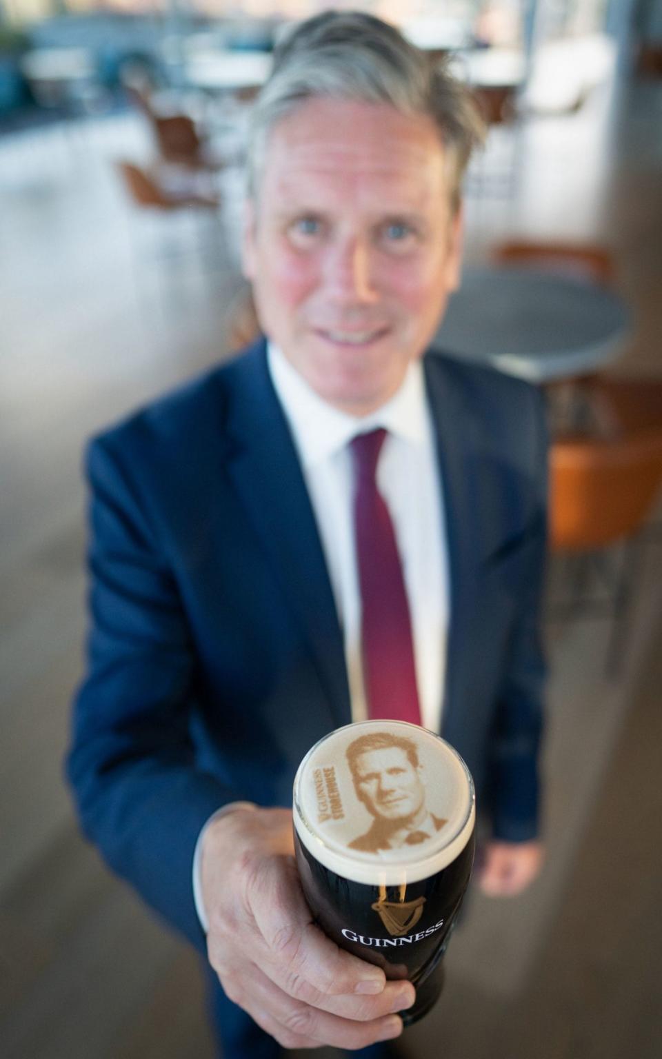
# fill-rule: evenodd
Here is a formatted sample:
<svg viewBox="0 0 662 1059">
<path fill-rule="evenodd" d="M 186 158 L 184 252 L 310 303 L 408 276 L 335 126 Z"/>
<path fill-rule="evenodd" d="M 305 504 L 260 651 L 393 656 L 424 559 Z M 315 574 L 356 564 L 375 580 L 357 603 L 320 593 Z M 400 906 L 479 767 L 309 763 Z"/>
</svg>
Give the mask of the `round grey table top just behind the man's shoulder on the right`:
<svg viewBox="0 0 662 1059">
<path fill-rule="evenodd" d="M 467 268 L 432 345 L 530 382 L 613 360 L 628 334 L 616 293 L 542 269 Z"/>
</svg>

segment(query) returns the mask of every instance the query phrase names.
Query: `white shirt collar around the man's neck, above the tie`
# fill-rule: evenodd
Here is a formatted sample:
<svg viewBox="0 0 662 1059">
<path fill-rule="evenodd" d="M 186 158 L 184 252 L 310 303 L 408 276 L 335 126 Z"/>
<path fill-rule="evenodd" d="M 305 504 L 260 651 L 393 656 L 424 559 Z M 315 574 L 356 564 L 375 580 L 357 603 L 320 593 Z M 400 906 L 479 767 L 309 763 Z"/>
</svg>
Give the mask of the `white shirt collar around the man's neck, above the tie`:
<svg viewBox="0 0 662 1059">
<path fill-rule="evenodd" d="M 425 443 L 428 412 L 419 360 L 409 364 L 401 387 L 386 405 L 369 415 L 354 416 L 323 400 L 271 342 L 267 344 L 267 359 L 304 467 L 335 455 L 356 434 L 378 427 L 413 445 Z"/>
</svg>

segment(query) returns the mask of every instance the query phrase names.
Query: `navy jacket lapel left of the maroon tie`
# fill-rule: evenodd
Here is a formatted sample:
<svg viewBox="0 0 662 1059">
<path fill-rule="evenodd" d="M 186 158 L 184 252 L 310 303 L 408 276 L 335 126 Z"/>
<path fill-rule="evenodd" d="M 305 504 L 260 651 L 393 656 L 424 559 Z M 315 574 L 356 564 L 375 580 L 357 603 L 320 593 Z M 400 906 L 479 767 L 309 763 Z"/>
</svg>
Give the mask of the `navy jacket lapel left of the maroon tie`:
<svg viewBox="0 0 662 1059">
<path fill-rule="evenodd" d="M 237 364 L 226 437 L 227 470 L 284 595 L 299 620 L 330 706 L 351 720 L 342 633 L 308 490 L 271 383 L 264 341 Z"/>
</svg>

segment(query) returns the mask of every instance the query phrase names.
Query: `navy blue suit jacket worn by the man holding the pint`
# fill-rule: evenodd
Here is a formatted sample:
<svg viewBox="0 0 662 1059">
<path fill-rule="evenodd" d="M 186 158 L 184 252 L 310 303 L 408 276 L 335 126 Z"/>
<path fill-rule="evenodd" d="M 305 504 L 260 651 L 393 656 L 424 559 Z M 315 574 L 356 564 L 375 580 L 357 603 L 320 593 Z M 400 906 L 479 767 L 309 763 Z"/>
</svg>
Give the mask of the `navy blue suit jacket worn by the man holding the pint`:
<svg viewBox="0 0 662 1059">
<path fill-rule="evenodd" d="M 507 840 L 536 834 L 539 395 L 425 358 L 450 553 L 444 736 Z M 89 447 L 91 631 L 68 760 L 84 830 L 198 948 L 191 872 L 232 800 L 291 804 L 351 720 L 343 641 L 264 341 Z"/>
</svg>

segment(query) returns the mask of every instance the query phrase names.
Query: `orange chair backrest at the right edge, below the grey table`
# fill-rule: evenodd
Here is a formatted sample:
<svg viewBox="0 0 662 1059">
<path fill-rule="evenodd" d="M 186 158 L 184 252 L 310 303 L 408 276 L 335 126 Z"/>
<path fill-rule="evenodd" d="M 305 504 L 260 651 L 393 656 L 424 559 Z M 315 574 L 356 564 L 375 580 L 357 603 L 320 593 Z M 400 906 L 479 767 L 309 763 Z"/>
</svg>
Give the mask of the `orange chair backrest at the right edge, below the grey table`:
<svg viewBox="0 0 662 1059">
<path fill-rule="evenodd" d="M 550 452 L 552 551 L 592 551 L 634 534 L 662 484 L 662 430 L 565 437 Z"/>
</svg>

